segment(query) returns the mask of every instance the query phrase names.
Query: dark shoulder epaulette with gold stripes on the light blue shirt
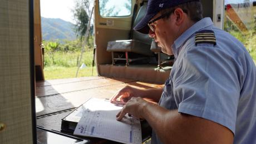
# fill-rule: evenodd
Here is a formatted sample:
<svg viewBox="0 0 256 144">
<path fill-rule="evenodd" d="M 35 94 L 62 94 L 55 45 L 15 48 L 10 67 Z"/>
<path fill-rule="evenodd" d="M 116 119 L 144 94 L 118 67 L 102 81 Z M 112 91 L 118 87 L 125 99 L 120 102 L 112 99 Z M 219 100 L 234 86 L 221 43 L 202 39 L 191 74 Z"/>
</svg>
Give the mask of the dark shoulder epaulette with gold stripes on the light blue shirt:
<svg viewBox="0 0 256 144">
<path fill-rule="evenodd" d="M 211 43 L 216 45 L 215 34 L 211 30 L 203 30 L 195 33 L 195 44 Z"/>
</svg>

